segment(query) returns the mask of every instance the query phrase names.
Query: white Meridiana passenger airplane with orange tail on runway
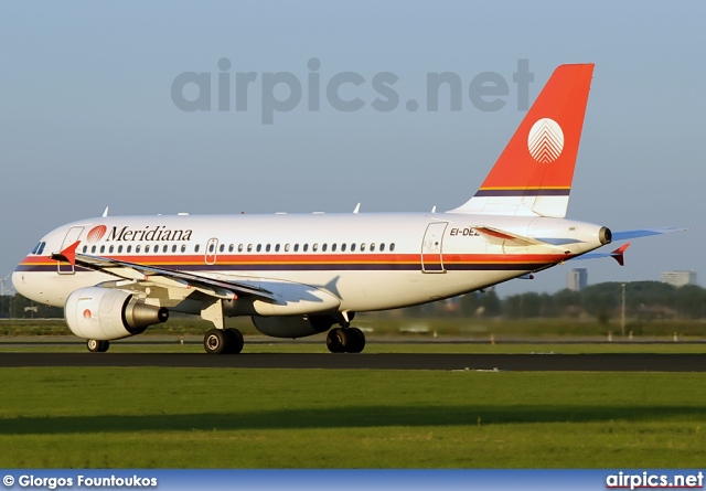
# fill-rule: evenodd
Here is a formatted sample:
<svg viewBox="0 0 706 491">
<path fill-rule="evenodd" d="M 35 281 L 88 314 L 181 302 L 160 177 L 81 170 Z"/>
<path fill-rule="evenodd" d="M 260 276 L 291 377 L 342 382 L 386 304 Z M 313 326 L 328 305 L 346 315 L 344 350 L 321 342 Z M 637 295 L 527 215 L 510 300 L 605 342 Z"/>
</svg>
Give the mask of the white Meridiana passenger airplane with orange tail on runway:
<svg viewBox="0 0 706 491">
<path fill-rule="evenodd" d="M 63 307 L 90 352 L 164 322 L 201 316 L 210 354 L 239 353 L 224 319 L 249 316 L 276 338 L 328 332 L 360 353 L 355 312 L 480 290 L 578 258 L 613 241 L 674 232 L 566 220 L 593 64 L 561 65 L 480 189 L 445 213 L 108 216 L 46 234 L 12 275 L 18 292 Z M 335 325 L 335 327 L 334 327 Z"/>
</svg>

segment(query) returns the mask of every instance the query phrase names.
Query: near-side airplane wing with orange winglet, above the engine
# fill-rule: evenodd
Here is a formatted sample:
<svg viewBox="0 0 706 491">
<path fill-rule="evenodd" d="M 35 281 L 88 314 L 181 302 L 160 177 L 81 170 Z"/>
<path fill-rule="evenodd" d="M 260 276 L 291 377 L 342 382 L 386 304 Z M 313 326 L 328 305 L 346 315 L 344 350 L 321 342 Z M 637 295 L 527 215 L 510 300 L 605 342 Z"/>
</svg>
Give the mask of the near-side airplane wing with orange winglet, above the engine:
<svg viewBox="0 0 706 491">
<path fill-rule="evenodd" d="M 193 288 L 206 295 L 223 299 L 234 299 L 240 295 L 255 296 L 267 300 L 276 299 L 271 291 L 254 287 L 244 281 L 217 280 L 157 266 L 145 266 L 107 257 L 76 254 L 79 242 L 81 241 L 77 241 L 61 253 L 52 254 L 50 258 L 78 265 L 87 269 L 93 269 L 94 271 L 107 273 L 124 279 L 138 281 L 149 280 L 163 287 Z"/>
</svg>

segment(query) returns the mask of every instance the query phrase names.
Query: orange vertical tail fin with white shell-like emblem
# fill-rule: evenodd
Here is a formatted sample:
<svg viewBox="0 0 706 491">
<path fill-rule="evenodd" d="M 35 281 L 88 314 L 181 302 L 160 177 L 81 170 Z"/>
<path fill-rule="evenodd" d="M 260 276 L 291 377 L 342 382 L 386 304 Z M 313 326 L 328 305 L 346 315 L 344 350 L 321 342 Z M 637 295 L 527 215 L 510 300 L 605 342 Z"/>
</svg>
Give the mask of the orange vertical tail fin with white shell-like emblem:
<svg viewBox="0 0 706 491">
<path fill-rule="evenodd" d="M 475 195 L 450 213 L 564 217 L 592 73 L 556 68 Z"/>
</svg>

